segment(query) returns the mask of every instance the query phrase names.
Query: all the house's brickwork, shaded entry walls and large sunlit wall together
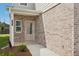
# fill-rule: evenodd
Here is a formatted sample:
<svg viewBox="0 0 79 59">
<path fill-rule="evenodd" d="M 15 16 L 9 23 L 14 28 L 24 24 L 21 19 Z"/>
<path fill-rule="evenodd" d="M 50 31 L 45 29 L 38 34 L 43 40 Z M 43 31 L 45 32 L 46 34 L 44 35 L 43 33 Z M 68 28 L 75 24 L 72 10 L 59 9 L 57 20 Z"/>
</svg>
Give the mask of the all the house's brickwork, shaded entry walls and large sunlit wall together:
<svg viewBox="0 0 79 59">
<path fill-rule="evenodd" d="M 22 20 L 22 33 L 14 33 L 15 42 L 25 42 L 24 22 L 33 20 L 36 42 L 59 55 L 79 55 L 79 4 L 62 3 L 36 17 L 15 14 L 15 20 Z"/>
</svg>

